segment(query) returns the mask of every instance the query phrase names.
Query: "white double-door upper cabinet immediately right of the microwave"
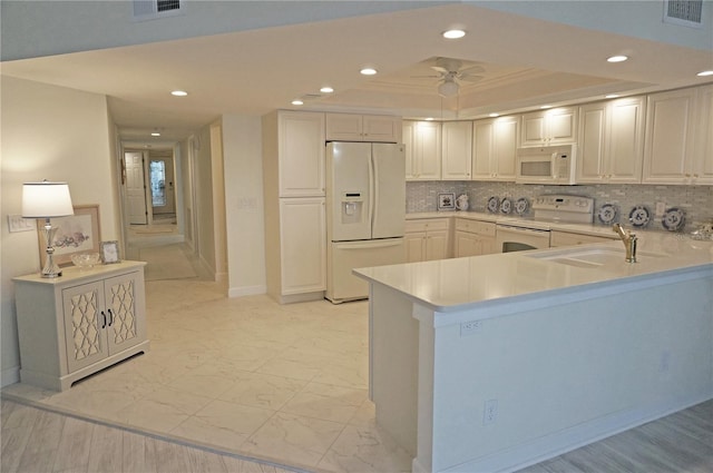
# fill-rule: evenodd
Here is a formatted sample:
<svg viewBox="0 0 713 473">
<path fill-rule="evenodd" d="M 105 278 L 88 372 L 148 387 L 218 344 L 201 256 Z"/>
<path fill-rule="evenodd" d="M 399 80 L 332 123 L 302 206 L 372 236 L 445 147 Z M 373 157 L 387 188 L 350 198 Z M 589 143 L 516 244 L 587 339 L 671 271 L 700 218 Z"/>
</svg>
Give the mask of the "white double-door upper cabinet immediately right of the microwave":
<svg viewBox="0 0 713 473">
<path fill-rule="evenodd" d="M 644 120 L 643 97 L 582 106 L 577 183 L 641 183 Z"/>
</svg>

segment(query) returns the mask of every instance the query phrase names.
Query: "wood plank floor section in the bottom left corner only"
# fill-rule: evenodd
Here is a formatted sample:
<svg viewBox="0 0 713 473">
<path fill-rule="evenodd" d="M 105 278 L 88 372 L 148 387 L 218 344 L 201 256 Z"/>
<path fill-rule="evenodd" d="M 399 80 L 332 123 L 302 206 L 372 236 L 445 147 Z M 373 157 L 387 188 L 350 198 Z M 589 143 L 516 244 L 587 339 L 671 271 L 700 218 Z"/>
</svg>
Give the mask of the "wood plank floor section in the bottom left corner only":
<svg viewBox="0 0 713 473">
<path fill-rule="evenodd" d="M 292 472 L 6 400 L 0 410 L 2 473 Z"/>
</svg>

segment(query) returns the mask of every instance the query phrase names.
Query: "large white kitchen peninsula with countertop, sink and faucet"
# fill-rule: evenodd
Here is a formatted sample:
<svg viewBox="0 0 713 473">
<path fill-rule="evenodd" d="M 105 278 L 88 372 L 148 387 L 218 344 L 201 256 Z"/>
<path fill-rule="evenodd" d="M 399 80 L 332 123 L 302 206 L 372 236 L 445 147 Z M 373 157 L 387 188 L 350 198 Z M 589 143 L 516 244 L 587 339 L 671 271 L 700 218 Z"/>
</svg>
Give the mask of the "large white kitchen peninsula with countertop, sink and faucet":
<svg viewBox="0 0 713 473">
<path fill-rule="evenodd" d="M 355 269 L 370 396 L 414 472 L 511 471 L 713 397 L 713 242 Z"/>
</svg>

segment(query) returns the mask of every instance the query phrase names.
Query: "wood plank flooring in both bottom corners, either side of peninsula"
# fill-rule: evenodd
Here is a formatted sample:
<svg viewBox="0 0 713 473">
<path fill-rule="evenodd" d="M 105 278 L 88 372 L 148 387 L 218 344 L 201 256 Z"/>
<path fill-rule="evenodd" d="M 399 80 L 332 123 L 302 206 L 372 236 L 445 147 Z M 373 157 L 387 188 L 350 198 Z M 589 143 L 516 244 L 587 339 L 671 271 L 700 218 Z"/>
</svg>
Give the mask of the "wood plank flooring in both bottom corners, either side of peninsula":
<svg viewBox="0 0 713 473">
<path fill-rule="evenodd" d="M 291 472 L 4 400 L 1 415 L 0 471 L 3 473 Z M 713 472 L 713 401 L 520 470 L 519 473 L 624 472 Z"/>
</svg>

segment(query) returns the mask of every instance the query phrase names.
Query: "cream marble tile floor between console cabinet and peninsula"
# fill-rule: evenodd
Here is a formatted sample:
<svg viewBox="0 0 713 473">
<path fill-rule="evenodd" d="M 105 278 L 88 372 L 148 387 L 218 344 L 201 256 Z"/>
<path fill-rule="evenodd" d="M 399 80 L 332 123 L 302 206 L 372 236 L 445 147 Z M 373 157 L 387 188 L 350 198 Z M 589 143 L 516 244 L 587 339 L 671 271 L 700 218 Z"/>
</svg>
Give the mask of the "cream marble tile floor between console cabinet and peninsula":
<svg viewBox="0 0 713 473">
<path fill-rule="evenodd" d="M 368 304 L 226 298 L 199 278 L 147 282 L 152 349 L 57 393 L 3 396 L 287 469 L 407 472 L 368 400 Z"/>
</svg>

